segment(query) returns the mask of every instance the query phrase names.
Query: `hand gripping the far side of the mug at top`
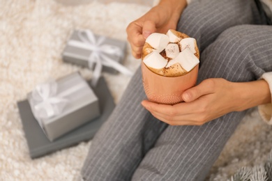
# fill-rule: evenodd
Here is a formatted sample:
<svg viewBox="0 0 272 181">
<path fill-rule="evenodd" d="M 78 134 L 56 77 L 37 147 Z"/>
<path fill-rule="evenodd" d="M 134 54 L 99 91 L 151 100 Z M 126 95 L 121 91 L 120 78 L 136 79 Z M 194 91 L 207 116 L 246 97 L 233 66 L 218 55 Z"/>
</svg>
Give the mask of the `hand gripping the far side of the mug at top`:
<svg viewBox="0 0 272 181">
<path fill-rule="evenodd" d="M 154 6 L 148 13 L 128 25 L 128 42 L 135 58 L 141 58 L 145 39 L 151 33 L 166 33 L 169 29 L 176 29 L 186 4 L 186 0 L 161 0 L 158 6 Z"/>
</svg>

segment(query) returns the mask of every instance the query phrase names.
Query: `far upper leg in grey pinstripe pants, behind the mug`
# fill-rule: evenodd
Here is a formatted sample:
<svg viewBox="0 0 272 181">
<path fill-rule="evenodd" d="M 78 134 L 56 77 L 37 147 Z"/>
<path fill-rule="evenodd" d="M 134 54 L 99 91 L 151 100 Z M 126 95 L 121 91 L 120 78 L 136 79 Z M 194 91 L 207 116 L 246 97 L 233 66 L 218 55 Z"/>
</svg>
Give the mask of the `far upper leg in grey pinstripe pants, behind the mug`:
<svg viewBox="0 0 272 181">
<path fill-rule="evenodd" d="M 204 51 L 225 29 L 256 22 L 254 4 L 253 0 L 246 6 L 243 0 L 192 1 L 183 11 L 177 30 L 197 39 L 199 50 Z"/>
</svg>

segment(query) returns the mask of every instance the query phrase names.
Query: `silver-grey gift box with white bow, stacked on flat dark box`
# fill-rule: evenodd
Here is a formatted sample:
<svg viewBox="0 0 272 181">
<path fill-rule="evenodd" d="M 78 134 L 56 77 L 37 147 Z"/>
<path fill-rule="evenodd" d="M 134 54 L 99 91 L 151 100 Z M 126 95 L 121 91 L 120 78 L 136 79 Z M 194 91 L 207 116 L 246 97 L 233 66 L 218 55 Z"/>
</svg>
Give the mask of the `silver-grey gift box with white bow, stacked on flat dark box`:
<svg viewBox="0 0 272 181">
<path fill-rule="evenodd" d="M 50 141 L 100 116 L 98 97 L 77 72 L 36 86 L 27 100 Z"/>
</svg>

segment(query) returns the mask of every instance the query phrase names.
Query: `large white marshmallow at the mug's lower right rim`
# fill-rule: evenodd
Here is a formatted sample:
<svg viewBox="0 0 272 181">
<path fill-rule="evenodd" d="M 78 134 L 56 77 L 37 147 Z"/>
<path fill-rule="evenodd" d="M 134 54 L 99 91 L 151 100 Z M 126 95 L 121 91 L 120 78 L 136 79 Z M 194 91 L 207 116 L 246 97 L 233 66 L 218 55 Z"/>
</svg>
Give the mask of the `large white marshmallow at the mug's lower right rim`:
<svg viewBox="0 0 272 181">
<path fill-rule="evenodd" d="M 195 68 L 195 66 L 199 63 L 198 58 L 195 56 L 195 54 L 192 54 L 190 49 L 184 49 L 172 61 L 173 63 L 178 62 L 181 65 L 181 67 L 187 72 L 190 72 L 190 70 L 192 70 L 192 68 Z M 171 66 L 171 64 L 169 65 Z"/>
</svg>

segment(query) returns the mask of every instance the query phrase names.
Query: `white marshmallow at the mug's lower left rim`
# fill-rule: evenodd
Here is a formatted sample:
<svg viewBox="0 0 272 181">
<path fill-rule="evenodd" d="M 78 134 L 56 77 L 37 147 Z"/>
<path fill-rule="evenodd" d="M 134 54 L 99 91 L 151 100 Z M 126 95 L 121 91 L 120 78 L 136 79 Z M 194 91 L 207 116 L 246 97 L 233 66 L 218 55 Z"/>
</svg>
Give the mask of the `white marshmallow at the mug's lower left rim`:
<svg viewBox="0 0 272 181">
<path fill-rule="evenodd" d="M 167 59 L 163 58 L 159 52 L 153 51 L 144 58 L 144 64 L 153 69 L 162 69 L 167 65 Z"/>
</svg>

